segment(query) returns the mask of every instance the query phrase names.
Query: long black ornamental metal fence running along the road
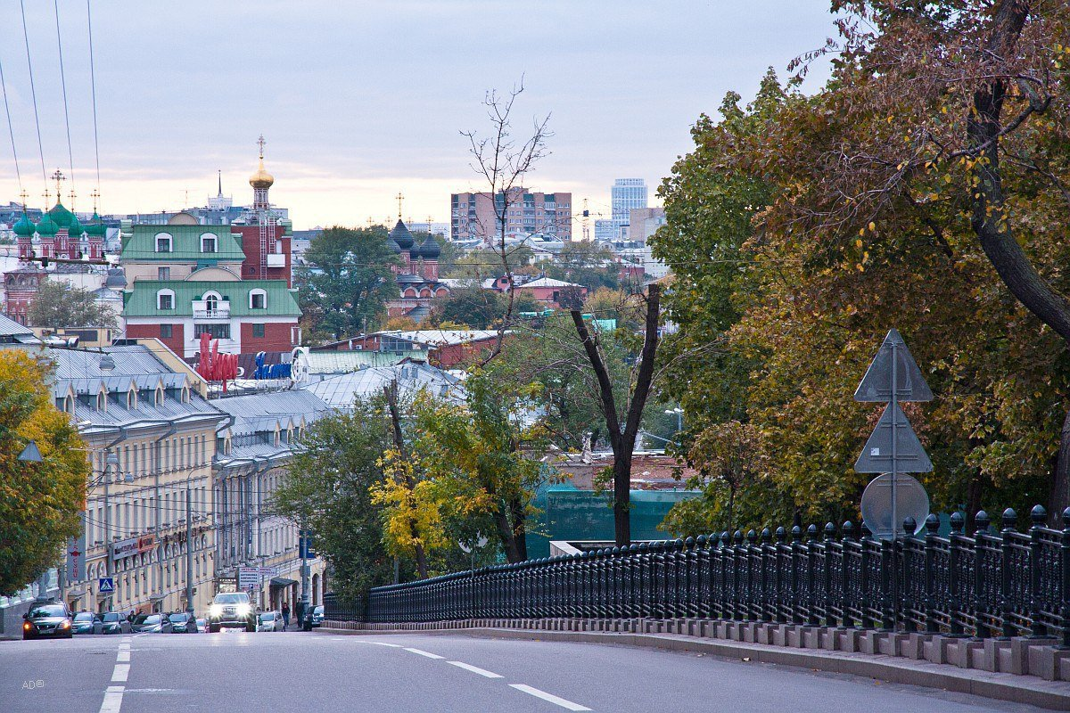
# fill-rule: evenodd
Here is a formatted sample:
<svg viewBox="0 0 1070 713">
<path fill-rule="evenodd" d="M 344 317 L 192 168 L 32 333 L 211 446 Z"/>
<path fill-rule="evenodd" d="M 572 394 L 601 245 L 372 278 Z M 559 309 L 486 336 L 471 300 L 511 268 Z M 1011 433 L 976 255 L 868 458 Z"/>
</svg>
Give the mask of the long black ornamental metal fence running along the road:
<svg viewBox="0 0 1070 713">
<path fill-rule="evenodd" d="M 372 589 L 367 621 L 682 618 L 1051 635 L 1070 646 L 1070 508 L 1061 530 L 1037 506 L 1028 531 L 983 511 L 937 536 L 877 540 L 850 523 L 702 536 L 458 572 Z M 915 523 L 907 520 L 907 531 Z"/>
</svg>

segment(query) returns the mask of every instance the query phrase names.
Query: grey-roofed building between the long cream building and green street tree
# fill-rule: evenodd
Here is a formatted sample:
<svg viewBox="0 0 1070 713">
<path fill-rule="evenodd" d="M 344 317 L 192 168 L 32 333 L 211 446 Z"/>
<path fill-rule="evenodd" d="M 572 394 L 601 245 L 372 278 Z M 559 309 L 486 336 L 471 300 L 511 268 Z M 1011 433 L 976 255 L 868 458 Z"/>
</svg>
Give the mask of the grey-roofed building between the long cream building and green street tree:
<svg viewBox="0 0 1070 713">
<path fill-rule="evenodd" d="M 268 570 L 253 592 L 265 609 L 291 608 L 302 592 L 297 528 L 272 514 L 272 495 L 286 477 L 294 445 L 330 407 L 305 390 L 277 391 L 212 402 L 230 416 L 217 435 L 214 463 L 216 588 L 236 586 L 239 568 Z M 324 562 L 305 561 L 308 603 L 327 591 Z"/>
</svg>

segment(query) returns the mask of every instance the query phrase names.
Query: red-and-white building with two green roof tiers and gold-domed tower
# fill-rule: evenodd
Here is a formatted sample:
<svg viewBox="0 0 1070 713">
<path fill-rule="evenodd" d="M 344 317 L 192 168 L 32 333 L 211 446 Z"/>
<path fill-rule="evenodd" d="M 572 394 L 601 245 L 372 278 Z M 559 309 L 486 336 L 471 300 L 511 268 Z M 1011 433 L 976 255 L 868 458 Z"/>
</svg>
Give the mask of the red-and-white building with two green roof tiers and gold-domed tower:
<svg viewBox="0 0 1070 713">
<path fill-rule="evenodd" d="M 301 343 L 290 237 L 268 201 L 274 179 L 249 177 L 257 224 L 205 226 L 180 213 L 166 226 L 123 224 L 126 336 L 152 337 L 183 357 L 200 336 L 229 354 L 287 352 Z"/>
</svg>

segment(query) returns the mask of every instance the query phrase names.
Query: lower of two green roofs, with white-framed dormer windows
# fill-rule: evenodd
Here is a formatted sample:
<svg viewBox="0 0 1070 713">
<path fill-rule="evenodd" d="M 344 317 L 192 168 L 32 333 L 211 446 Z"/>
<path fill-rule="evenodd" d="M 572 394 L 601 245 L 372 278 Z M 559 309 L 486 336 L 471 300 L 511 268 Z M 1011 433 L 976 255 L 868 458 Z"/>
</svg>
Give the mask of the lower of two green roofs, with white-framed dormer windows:
<svg viewBox="0 0 1070 713">
<path fill-rule="evenodd" d="M 156 293 L 174 292 L 174 309 L 156 308 Z M 249 291 L 268 293 L 266 309 L 249 308 Z M 301 316 L 294 293 L 286 280 L 135 280 L 134 290 L 123 295 L 123 316 L 193 316 L 193 303 L 213 291 L 230 301 L 231 316 Z"/>
</svg>

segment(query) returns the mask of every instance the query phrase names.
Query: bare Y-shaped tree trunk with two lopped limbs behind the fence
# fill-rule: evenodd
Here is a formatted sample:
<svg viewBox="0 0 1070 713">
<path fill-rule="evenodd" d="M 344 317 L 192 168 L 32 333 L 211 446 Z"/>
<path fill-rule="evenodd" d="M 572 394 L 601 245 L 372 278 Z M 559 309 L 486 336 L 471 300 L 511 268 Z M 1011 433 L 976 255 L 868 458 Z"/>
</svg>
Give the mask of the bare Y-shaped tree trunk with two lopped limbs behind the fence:
<svg viewBox="0 0 1070 713">
<path fill-rule="evenodd" d="M 576 334 L 580 337 L 587 360 L 598 379 L 598 403 L 606 418 L 607 438 L 613 449 L 613 529 L 616 544 L 622 547 L 631 542 L 631 454 L 636 449 L 636 436 L 639 434 L 646 398 L 654 383 L 660 310 L 661 285 L 654 283 L 647 289 L 643 348 L 639 355 L 639 369 L 635 382 L 629 384 L 630 398 L 626 404 L 623 428 L 616 398 L 613 394 L 613 383 L 599 348 L 597 335 L 592 335 L 587 329 L 581 309 L 569 310 L 572 323 L 576 325 Z"/>
</svg>

